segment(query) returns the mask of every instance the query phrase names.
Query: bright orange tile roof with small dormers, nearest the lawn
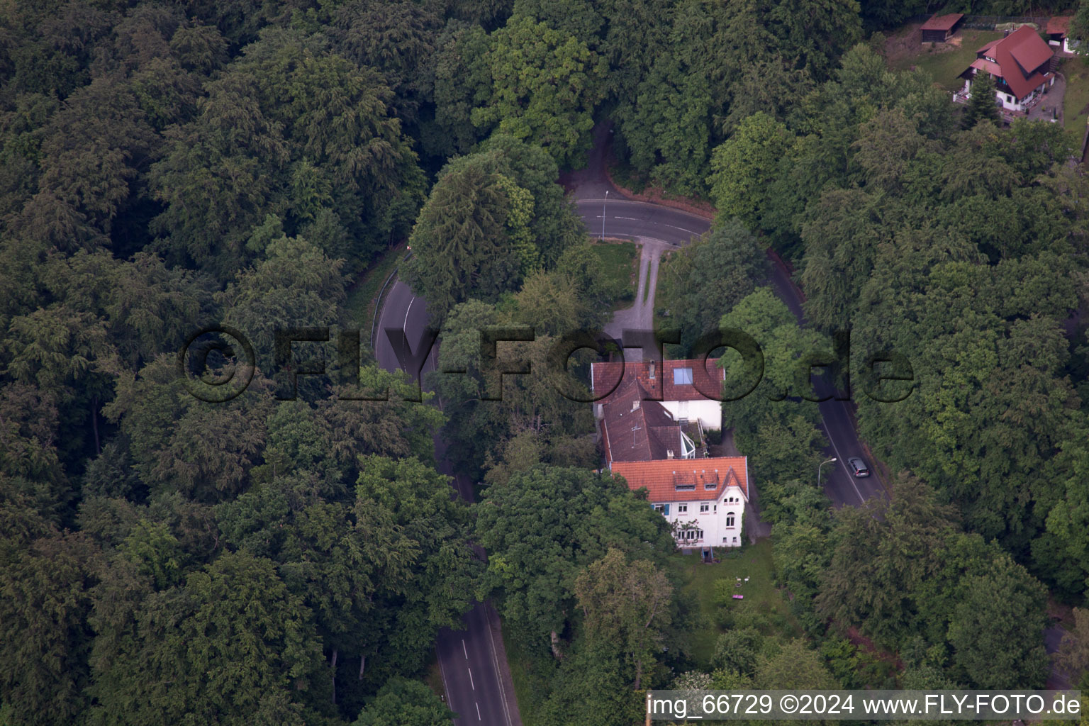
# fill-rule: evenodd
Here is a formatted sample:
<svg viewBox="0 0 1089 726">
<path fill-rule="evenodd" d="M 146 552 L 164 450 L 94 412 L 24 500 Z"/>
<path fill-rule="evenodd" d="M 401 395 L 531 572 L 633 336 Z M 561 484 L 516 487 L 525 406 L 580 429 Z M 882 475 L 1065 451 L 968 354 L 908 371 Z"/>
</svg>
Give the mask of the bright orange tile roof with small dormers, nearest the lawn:
<svg viewBox="0 0 1089 726">
<path fill-rule="evenodd" d="M 633 491 L 646 489 L 652 503 L 718 500 L 729 485 L 741 487 L 748 499 L 748 463 L 744 456 L 614 462 L 612 472 L 624 477 Z"/>
</svg>

